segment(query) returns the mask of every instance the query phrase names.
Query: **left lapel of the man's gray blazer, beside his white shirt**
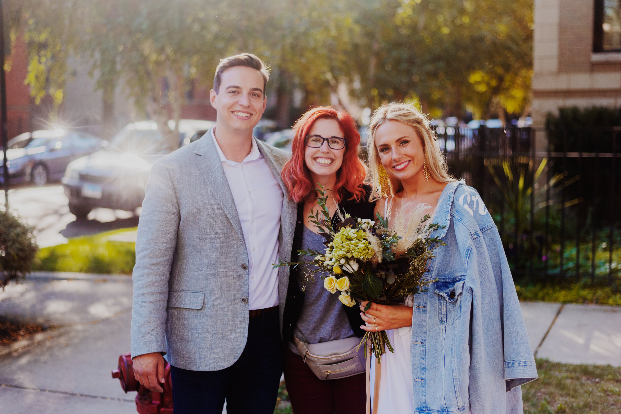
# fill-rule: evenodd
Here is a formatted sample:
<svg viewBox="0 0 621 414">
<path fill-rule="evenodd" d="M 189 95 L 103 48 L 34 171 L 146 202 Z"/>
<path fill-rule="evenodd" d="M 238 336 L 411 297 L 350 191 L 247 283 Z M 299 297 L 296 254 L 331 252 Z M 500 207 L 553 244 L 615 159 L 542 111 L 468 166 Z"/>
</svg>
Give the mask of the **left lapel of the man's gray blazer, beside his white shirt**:
<svg viewBox="0 0 621 414">
<path fill-rule="evenodd" d="M 227 176 L 224 174 L 222 162 L 218 156 L 218 151 L 215 149 L 214 140 L 211 138 L 211 130 L 199 139 L 194 154 L 199 156 L 196 158 L 196 164 L 199 170 L 201 170 L 205 182 L 211 188 L 215 199 L 220 203 L 220 207 L 222 207 L 229 221 L 233 224 L 235 231 L 237 231 L 237 235 L 243 241 L 242 223 L 239 221 L 237 206 L 235 206 L 233 193 L 229 187 L 229 180 L 227 180 Z"/>
</svg>

